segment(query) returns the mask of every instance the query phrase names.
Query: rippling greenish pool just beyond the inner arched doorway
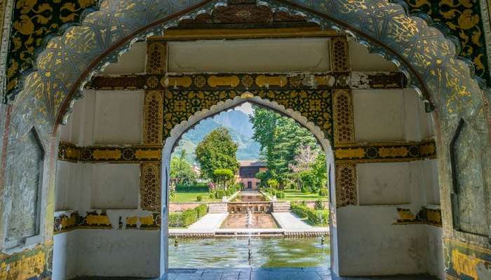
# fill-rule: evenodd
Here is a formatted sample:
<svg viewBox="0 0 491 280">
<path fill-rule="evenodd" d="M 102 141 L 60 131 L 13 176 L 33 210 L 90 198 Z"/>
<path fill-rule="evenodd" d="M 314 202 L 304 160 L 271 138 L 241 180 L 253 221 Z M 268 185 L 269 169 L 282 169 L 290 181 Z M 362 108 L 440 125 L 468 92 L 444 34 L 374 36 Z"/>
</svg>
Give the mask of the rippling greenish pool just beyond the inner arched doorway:
<svg viewBox="0 0 491 280">
<path fill-rule="evenodd" d="M 170 268 L 330 267 L 328 237 L 169 239 Z M 250 248 L 250 253 L 249 253 Z M 250 256 L 249 256 L 250 255 Z"/>
</svg>

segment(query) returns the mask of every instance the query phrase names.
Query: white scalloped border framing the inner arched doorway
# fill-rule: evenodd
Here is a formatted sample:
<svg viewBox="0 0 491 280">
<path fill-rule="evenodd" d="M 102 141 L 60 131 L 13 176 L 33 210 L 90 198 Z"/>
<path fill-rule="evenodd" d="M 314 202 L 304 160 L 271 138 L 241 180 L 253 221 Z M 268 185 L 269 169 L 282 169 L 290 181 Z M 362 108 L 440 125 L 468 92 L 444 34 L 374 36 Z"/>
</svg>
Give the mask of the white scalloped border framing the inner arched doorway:
<svg viewBox="0 0 491 280">
<path fill-rule="evenodd" d="M 326 137 L 321 127 L 318 127 L 307 118 L 302 116 L 298 111 L 294 111 L 288 107 L 285 107 L 278 102 L 270 101 L 269 99 L 263 99 L 258 96 L 254 96 L 250 92 L 244 92 L 240 96 L 234 97 L 234 99 L 226 99 L 224 101 L 217 102 L 213 104 L 209 109 L 204 109 L 202 111 L 197 111 L 189 117 L 188 120 L 182 121 L 180 124 L 175 125 L 172 130 L 170 130 L 169 137 L 165 139 L 162 153 L 162 188 L 161 188 L 161 204 L 162 204 L 162 220 L 161 225 L 166 225 L 161 228 L 161 276 L 165 274 L 168 269 L 168 207 L 169 204 L 169 188 L 170 185 L 170 158 L 175 148 L 177 142 L 182 137 L 182 134 L 187 132 L 191 127 L 199 123 L 208 117 L 214 116 L 222 111 L 227 111 L 228 109 L 233 109 L 236 106 L 240 106 L 244 102 L 250 102 L 258 106 L 263 106 L 264 108 L 271 109 L 285 116 L 288 116 L 295 120 L 297 123 L 307 128 L 314 137 L 321 144 L 323 151 L 325 152 L 325 162 L 327 164 L 328 179 L 330 187 L 330 219 L 336 215 L 336 188 L 335 188 L 335 176 L 334 174 L 329 174 L 329 170 L 335 169 L 335 159 L 334 153 L 332 151 L 332 146 L 330 140 Z M 330 223 L 330 248 L 331 248 L 331 267 L 337 273 L 337 229 Z M 164 278 L 165 279 L 165 278 Z"/>
</svg>

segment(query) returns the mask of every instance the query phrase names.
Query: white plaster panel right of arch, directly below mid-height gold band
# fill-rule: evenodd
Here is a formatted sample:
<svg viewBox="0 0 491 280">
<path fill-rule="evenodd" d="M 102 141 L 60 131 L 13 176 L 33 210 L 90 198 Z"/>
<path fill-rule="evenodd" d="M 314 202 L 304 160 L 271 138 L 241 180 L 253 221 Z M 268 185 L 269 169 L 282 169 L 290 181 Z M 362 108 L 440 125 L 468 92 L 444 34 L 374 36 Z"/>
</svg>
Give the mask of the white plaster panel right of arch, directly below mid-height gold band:
<svg viewBox="0 0 491 280">
<path fill-rule="evenodd" d="M 408 204 L 414 183 L 409 162 L 356 165 L 358 201 L 361 205 Z"/>
</svg>

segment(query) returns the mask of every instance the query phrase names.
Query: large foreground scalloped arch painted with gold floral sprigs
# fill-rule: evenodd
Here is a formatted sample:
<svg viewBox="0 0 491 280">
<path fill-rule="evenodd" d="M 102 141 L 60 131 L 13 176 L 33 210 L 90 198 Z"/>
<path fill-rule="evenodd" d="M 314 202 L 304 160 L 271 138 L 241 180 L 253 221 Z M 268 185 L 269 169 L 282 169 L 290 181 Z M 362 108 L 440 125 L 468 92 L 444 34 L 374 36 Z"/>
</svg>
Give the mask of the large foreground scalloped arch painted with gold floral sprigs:
<svg viewBox="0 0 491 280">
<path fill-rule="evenodd" d="M 130 2 L 102 1 L 100 10 L 87 15 L 81 26 L 69 27 L 62 36 L 48 41 L 46 50 L 36 59 L 37 70 L 25 78 L 14 111 L 35 95 L 36 99 L 30 101 L 41 102 L 34 111 L 41 111 L 43 116 L 39 117 L 56 127 L 74 99 L 79 98 L 79 88 L 96 71 L 115 62 L 131 43 L 224 5 L 220 1 L 140 0 L 136 5 L 140 8 L 132 10 L 126 8 Z M 478 81 L 471 78 L 469 66 L 454 58 L 455 45 L 423 20 L 408 18 L 401 6 L 383 0 L 277 0 L 259 4 L 357 36 L 361 43 L 371 44 L 372 51 L 398 62 L 401 71 L 412 76 L 410 84 L 431 99 L 440 118 L 455 120 L 457 115 L 468 115 L 480 119 L 480 127 L 487 131 L 483 118 L 487 116 L 487 99 Z M 377 7 L 377 13 L 370 12 L 372 7 Z M 485 114 L 479 117 L 480 111 Z"/>
</svg>

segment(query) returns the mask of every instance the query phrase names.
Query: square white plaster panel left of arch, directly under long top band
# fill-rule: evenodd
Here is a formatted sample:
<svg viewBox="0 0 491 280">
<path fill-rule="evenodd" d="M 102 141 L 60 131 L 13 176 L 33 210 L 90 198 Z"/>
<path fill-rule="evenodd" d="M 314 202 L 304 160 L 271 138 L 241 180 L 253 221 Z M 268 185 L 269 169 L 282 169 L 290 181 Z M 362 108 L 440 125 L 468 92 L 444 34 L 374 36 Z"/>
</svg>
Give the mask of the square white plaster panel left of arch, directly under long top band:
<svg viewBox="0 0 491 280">
<path fill-rule="evenodd" d="M 103 90 L 95 95 L 95 144 L 140 144 L 144 92 Z"/>
</svg>

